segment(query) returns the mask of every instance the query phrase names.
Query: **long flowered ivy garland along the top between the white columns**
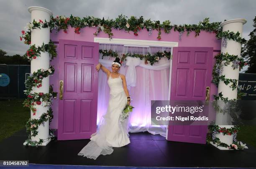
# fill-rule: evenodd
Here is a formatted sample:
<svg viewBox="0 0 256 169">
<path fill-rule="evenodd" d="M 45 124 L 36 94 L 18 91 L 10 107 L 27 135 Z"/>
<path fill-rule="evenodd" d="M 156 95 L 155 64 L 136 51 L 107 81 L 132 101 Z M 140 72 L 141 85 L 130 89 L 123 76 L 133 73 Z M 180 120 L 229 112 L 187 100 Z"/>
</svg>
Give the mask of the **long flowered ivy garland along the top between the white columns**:
<svg viewBox="0 0 256 169">
<path fill-rule="evenodd" d="M 56 30 L 56 32 L 63 30 L 64 33 L 67 33 L 68 26 L 74 27 L 74 32 L 76 34 L 80 34 L 81 28 L 84 27 L 96 27 L 96 32 L 94 33 L 95 36 L 97 36 L 100 31 L 105 32 L 108 34 L 108 37 L 112 39 L 113 33 L 112 28 L 118 29 L 118 30 L 125 30 L 125 32 L 133 32 L 133 35 L 138 36 L 138 32 L 142 29 L 147 29 L 149 32 L 148 35 L 150 36 L 152 34 L 152 30 L 158 31 L 158 40 L 161 40 L 161 30 L 163 29 L 165 33 L 170 33 L 172 29 L 174 31 L 180 32 L 180 37 L 184 31 L 187 31 L 187 35 L 189 35 L 190 32 L 195 31 L 195 37 L 199 36 L 201 30 L 205 30 L 207 32 L 214 32 L 216 34 L 217 39 L 221 39 L 222 37 L 225 37 L 229 40 L 235 40 L 239 43 L 245 43 L 246 40 L 244 38 L 240 37 L 239 32 L 229 32 L 229 31 L 222 31 L 222 27 L 220 27 L 221 22 L 212 22 L 210 23 L 209 17 L 206 17 L 203 21 L 200 21 L 197 25 L 171 25 L 171 22 L 169 20 L 164 21 L 163 23 L 160 23 L 159 20 L 157 21 L 151 21 L 150 19 L 144 20 L 143 16 L 137 18 L 134 16 L 131 16 L 128 18 L 125 15 L 119 15 L 115 20 L 108 19 L 105 20 L 104 17 L 102 19 L 97 17 L 74 17 L 73 15 L 70 15 L 70 17 L 66 16 L 56 16 L 55 18 L 53 16 L 50 17 L 50 21 L 47 22 L 46 20 L 43 22 L 42 20 L 39 20 L 39 22 L 36 22 L 33 20 L 32 23 L 27 24 L 27 30 L 28 31 L 22 31 L 22 36 L 20 36 L 20 40 L 24 38 L 25 44 L 31 43 L 31 30 L 43 27 L 50 27 L 50 31 L 52 32 L 53 29 Z M 180 39 L 180 38 L 179 38 Z"/>
</svg>

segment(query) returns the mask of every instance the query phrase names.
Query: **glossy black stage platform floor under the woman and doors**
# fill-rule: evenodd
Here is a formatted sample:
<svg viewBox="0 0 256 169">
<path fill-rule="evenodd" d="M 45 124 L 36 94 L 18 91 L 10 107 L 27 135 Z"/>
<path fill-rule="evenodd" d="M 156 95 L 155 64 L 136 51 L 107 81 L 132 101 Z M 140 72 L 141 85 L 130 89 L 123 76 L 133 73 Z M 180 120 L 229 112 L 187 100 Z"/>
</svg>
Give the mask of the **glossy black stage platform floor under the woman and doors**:
<svg viewBox="0 0 256 169">
<path fill-rule="evenodd" d="M 26 129 L 0 142 L 0 160 L 29 160 L 30 164 L 127 167 L 250 167 L 256 168 L 256 149 L 219 150 L 212 145 L 170 142 L 148 132 L 130 133 L 131 143 L 114 147 L 113 154 L 96 160 L 78 156 L 90 141 L 51 141 L 47 146 L 24 147 Z"/>
</svg>

